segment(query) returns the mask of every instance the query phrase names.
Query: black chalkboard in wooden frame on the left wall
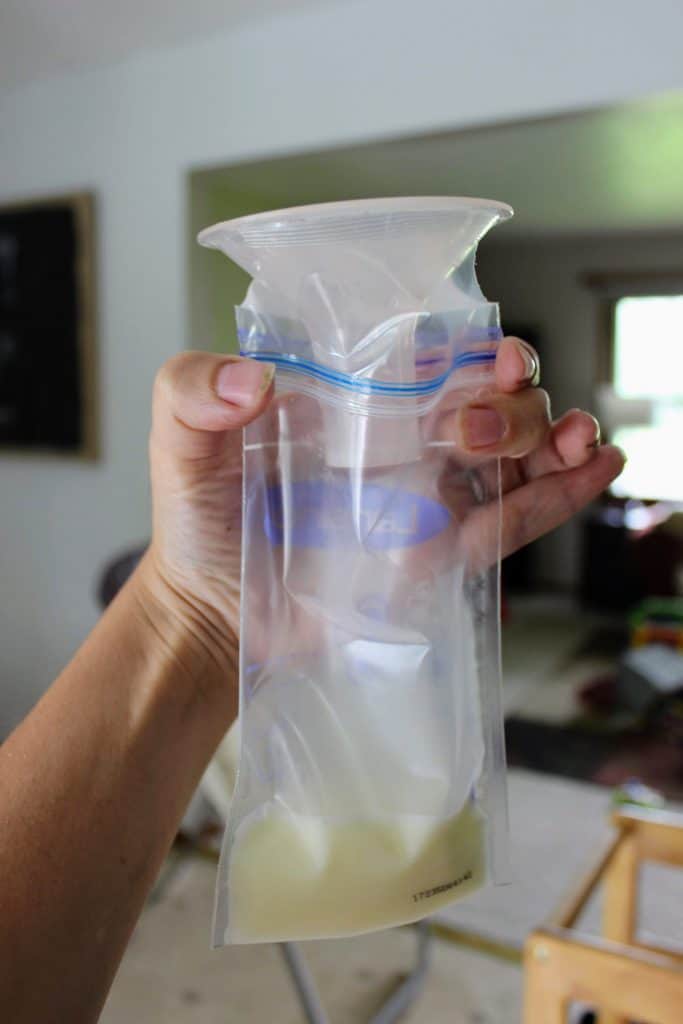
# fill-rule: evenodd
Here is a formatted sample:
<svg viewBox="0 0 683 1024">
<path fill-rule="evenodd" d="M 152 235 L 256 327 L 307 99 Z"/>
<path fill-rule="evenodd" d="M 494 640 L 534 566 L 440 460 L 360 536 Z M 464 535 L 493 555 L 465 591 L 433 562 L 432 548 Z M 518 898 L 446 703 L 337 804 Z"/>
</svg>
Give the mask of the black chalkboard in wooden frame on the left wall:
<svg viewBox="0 0 683 1024">
<path fill-rule="evenodd" d="M 97 454 L 93 199 L 0 205 L 0 455 Z"/>
</svg>

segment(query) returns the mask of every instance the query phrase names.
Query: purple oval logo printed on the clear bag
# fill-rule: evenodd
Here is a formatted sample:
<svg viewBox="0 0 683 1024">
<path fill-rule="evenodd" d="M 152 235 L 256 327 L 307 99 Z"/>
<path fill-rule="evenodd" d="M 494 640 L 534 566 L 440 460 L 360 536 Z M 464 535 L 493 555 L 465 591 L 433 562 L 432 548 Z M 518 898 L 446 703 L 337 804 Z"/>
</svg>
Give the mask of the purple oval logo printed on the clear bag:
<svg viewBox="0 0 683 1024">
<path fill-rule="evenodd" d="M 297 480 L 266 489 L 264 529 L 271 544 L 287 538 L 298 548 L 347 547 L 386 551 L 436 537 L 451 522 L 439 502 L 412 490 L 365 483 Z"/>
</svg>

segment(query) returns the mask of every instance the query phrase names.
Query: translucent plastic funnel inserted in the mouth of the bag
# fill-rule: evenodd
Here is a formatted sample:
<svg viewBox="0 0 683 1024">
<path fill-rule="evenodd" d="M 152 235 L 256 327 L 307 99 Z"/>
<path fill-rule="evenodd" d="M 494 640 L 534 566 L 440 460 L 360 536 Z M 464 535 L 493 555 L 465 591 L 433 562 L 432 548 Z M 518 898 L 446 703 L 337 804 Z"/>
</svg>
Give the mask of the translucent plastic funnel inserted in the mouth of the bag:
<svg viewBox="0 0 683 1024">
<path fill-rule="evenodd" d="M 476 247 L 511 215 L 494 200 L 357 200 L 224 221 L 199 242 L 252 274 L 241 310 L 275 339 L 273 351 L 298 358 L 303 351 L 317 366 L 366 381 L 411 384 L 425 314 L 485 303 Z M 367 425 L 344 411 L 328 418 L 330 464 L 353 465 L 354 438 L 367 446 Z M 390 423 L 372 429 L 378 464 L 419 457 L 417 428 L 405 421 L 400 443 Z"/>
</svg>

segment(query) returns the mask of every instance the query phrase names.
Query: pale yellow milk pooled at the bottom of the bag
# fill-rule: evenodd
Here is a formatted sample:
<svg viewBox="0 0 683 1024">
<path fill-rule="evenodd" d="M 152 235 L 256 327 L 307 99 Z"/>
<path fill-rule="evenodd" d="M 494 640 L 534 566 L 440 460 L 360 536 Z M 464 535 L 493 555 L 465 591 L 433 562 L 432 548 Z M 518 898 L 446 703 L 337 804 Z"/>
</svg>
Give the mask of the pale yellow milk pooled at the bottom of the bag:
<svg viewBox="0 0 683 1024">
<path fill-rule="evenodd" d="M 232 847 L 232 940 L 322 939 L 419 921 L 483 884 L 483 834 L 472 804 L 440 822 L 255 812 Z"/>
</svg>

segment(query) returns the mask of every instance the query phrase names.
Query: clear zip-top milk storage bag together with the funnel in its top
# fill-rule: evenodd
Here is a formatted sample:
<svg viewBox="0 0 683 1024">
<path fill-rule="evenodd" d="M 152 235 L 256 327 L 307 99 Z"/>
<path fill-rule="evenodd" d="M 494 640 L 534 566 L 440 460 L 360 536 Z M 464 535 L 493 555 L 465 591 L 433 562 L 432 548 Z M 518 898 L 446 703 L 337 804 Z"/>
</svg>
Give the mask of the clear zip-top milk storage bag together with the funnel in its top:
<svg viewBox="0 0 683 1024">
<path fill-rule="evenodd" d="M 215 944 L 416 921 L 500 879 L 497 460 L 454 444 L 493 388 L 471 199 L 301 207 L 207 228 L 253 282 L 244 355 L 241 754 Z"/>
</svg>

